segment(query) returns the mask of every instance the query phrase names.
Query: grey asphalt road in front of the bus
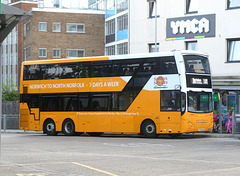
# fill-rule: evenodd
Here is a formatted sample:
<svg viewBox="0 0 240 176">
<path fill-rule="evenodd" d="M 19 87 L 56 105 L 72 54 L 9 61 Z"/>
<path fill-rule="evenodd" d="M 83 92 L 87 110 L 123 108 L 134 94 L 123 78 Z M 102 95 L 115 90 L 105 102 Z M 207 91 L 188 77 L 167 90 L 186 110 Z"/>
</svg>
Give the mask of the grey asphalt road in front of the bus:
<svg viewBox="0 0 240 176">
<path fill-rule="evenodd" d="M 2 133 L 0 176 L 240 175 L 240 140 Z"/>
</svg>

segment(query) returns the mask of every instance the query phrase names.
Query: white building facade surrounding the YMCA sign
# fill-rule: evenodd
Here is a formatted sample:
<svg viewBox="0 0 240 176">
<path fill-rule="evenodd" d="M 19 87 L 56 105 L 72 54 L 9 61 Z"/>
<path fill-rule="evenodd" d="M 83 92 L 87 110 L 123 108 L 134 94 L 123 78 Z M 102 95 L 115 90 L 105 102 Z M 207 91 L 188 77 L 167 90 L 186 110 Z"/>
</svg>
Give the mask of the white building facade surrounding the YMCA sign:
<svg viewBox="0 0 240 176">
<path fill-rule="evenodd" d="M 147 0 L 130 1 L 129 53 L 151 51 L 154 8 Z M 240 89 L 239 0 L 157 0 L 157 12 L 159 51 L 193 49 L 207 53 L 214 87 Z"/>
</svg>

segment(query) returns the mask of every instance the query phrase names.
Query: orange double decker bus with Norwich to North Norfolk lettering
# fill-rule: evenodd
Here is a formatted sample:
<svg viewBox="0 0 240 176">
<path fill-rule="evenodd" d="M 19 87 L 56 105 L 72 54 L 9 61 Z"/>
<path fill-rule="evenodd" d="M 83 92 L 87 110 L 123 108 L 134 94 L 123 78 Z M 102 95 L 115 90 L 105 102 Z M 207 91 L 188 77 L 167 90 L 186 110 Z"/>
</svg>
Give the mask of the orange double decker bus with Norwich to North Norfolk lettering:
<svg viewBox="0 0 240 176">
<path fill-rule="evenodd" d="M 47 135 L 210 132 L 208 57 L 194 51 L 26 61 L 20 129 Z"/>
</svg>

